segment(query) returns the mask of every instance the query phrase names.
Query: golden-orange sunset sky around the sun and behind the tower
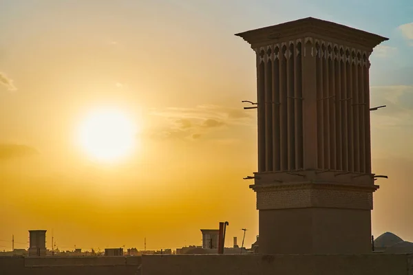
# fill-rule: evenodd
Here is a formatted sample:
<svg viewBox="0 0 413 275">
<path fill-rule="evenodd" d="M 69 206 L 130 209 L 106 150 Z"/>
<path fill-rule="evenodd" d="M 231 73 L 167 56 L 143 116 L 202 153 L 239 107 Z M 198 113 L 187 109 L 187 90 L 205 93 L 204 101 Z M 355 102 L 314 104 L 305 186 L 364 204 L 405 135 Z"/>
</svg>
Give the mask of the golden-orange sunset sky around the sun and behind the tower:
<svg viewBox="0 0 413 275">
<path fill-rule="evenodd" d="M 266 1 L 218 2 L 4 5 L 0 249 L 11 248 L 12 234 L 25 248 L 32 229 L 47 230 L 49 247 L 53 232 L 62 249 L 143 249 L 145 237 L 147 249 L 179 248 L 200 245 L 200 229 L 220 221 L 229 221 L 226 245 L 248 228 L 249 248 L 258 216 L 252 182 L 242 177 L 257 169 L 256 115 L 240 101 L 255 100 L 255 56 L 233 34 L 306 16 L 390 37 L 372 56 L 372 105 L 388 104 L 372 113 L 373 173 L 390 177 L 377 182 L 372 225 L 375 235 L 413 239 L 413 83 L 396 78 L 394 59 L 413 67 L 402 58 L 412 47 L 396 31 L 410 22 L 380 30 L 374 15 L 352 23 L 318 0 L 290 14 L 278 8 L 300 1 L 274 1 L 271 16 Z M 374 69 L 383 64 L 392 71 Z M 76 142 L 96 107 L 123 110 L 140 128 L 138 149 L 115 164 L 93 162 Z"/>
</svg>

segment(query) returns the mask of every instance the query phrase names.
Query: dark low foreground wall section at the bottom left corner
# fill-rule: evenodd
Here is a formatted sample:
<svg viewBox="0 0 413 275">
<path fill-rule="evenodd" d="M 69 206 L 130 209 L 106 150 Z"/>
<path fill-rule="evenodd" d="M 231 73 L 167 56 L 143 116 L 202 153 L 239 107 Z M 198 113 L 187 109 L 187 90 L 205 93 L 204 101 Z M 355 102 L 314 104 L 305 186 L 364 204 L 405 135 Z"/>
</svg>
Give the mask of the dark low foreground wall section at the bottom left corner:
<svg viewBox="0 0 413 275">
<path fill-rule="evenodd" d="M 0 275 L 136 275 L 140 256 L 0 257 Z"/>
</svg>

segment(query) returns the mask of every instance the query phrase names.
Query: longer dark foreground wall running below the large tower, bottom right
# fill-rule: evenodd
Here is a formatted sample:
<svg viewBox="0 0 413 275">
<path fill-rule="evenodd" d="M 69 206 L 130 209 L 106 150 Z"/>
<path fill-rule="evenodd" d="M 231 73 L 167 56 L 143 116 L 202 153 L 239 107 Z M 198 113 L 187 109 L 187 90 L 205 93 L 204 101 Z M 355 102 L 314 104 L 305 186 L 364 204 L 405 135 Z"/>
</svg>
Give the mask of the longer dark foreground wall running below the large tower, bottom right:
<svg viewBox="0 0 413 275">
<path fill-rule="evenodd" d="M 143 255 L 142 275 L 413 275 L 413 255 Z"/>
</svg>

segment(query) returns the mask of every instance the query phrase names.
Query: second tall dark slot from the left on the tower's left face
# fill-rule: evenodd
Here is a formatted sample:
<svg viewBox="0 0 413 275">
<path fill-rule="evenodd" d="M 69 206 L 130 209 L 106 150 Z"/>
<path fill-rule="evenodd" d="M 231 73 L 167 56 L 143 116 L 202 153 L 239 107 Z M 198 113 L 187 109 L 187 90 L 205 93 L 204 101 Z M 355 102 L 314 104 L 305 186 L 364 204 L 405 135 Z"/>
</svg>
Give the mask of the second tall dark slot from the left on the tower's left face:
<svg viewBox="0 0 413 275">
<path fill-rule="evenodd" d="M 273 64 L 272 49 L 267 47 L 265 63 L 265 138 L 266 138 L 266 171 L 273 170 Z"/>
</svg>

